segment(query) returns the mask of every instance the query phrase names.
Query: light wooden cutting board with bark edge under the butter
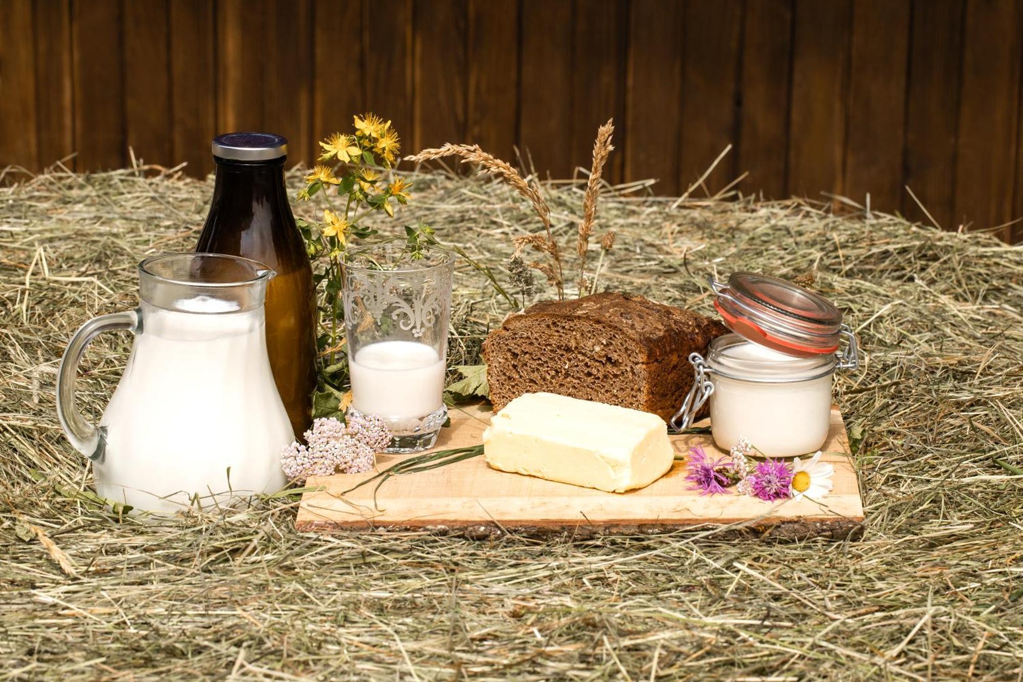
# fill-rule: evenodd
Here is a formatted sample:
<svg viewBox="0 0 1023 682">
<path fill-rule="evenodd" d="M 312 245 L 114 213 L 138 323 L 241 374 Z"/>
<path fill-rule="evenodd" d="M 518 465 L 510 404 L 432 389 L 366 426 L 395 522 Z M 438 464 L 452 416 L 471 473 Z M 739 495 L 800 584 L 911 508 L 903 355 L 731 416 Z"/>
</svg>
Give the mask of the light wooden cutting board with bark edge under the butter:
<svg viewBox="0 0 1023 682">
<path fill-rule="evenodd" d="M 451 411 L 436 450 L 479 444 L 490 423 L 489 406 Z M 710 434 L 671 436 L 675 452 L 685 455 L 701 444 L 708 454 L 723 454 Z M 847 537 L 860 527 L 863 506 L 849 455 L 842 415 L 832 409 L 831 432 L 821 458 L 835 465 L 834 489 L 819 503 L 804 499 L 767 503 L 748 496 L 701 496 L 684 480 L 677 461 L 663 477 L 644 488 L 605 493 L 588 487 L 497 471 L 483 457 L 431 471 L 392 476 L 376 492 L 371 482 L 345 491 L 375 472 L 310 478 L 295 525 L 299 530 L 464 528 L 471 535 L 490 530 L 636 531 L 738 524 L 743 532 L 773 536 Z M 377 456 L 385 469 L 407 455 Z"/>
</svg>

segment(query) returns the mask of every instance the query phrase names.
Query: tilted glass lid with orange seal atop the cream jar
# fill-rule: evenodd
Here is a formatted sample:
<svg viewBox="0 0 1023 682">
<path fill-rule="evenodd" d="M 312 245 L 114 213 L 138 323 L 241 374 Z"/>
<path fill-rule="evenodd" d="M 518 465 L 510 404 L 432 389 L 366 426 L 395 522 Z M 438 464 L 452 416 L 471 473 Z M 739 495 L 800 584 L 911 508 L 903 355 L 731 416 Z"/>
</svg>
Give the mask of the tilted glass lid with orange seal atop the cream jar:
<svg viewBox="0 0 1023 682">
<path fill-rule="evenodd" d="M 725 326 L 754 343 L 797 357 L 838 350 L 842 313 L 817 294 L 754 272 L 711 280 L 711 288 Z"/>
</svg>

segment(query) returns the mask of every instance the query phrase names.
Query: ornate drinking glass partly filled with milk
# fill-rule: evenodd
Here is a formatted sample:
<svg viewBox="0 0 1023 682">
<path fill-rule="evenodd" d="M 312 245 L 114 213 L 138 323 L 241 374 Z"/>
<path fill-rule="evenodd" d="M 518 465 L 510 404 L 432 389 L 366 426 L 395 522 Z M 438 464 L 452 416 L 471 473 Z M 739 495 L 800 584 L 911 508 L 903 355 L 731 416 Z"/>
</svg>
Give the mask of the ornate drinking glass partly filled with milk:
<svg viewBox="0 0 1023 682">
<path fill-rule="evenodd" d="M 388 453 L 432 447 L 447 420 L 444 370 L 453 255 L 440 248 L 414 258 L 402 241 L 352 249 L 344 289 L 350 414 L 383 418 Z"/>
</svg>

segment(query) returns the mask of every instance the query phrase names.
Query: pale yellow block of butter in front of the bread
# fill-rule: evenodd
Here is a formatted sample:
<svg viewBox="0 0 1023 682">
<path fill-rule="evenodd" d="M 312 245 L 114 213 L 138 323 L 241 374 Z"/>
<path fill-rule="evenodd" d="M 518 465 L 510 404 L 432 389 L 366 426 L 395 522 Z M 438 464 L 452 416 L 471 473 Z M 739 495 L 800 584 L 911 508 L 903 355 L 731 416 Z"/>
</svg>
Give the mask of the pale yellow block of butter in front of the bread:
<svg viewBox="0 0 1023 682">
<path fill-rule="evenodd" d="M 483 433 L 494 469 L 623 493 L 663 476 L 674 460 L 657 415 L 554 393 L 508 402 Z"/>
</svg>

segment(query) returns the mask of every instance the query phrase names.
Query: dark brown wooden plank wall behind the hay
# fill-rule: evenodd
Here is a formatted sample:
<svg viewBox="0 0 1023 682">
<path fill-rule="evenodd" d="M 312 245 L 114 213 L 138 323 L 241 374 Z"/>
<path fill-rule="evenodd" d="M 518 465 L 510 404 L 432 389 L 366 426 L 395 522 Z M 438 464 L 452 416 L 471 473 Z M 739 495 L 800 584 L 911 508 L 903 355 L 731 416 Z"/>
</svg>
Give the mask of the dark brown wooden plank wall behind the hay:
<svg viewBox="0 0 1023 682">
<path fill-rule="evenodd" d="M 1023 241 L 1023 0 L 0 0 L 0 166 L 212 168 L 218 131 L 312 161 L 372 110 L 405 151 L 568 176 L 844 195 Z M 904 189 L 914 190 L 926 215 Z"/>
</svg>

